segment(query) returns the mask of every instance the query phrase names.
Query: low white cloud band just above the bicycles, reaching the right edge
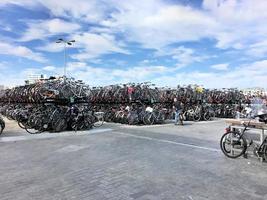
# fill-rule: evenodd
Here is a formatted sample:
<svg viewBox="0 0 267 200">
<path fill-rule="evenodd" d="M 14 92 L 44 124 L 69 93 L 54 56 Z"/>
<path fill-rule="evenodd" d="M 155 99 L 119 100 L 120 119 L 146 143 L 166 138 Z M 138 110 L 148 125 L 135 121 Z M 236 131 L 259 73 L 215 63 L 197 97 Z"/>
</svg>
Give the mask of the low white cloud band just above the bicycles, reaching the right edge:
<svg viewBox="0 0 267 200">
<path fill-rule="evenodd" d="M 163 75 L 152 80 L 158 85 L 162 83 L 169 86 L 177 84 L 200 84 L 207 88 L 248 88 L 263 87 L 267 85 L 267 60 L 257 61 L 251 64 L 239 66 L 231 71 L 190 73 L 178 72 Z"/>
</svg>

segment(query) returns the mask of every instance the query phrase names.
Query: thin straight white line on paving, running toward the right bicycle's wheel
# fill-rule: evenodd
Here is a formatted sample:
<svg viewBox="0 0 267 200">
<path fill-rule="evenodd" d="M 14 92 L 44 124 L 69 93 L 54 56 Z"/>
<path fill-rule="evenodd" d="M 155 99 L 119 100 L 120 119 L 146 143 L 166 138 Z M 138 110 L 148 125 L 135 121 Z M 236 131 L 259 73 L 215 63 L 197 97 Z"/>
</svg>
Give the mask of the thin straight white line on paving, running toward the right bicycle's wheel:
<svg viewBox="0 0 267 200">
<path fill-rule="evenodd" d="M 203 147 L 203 146 L 198 146 L 198 145 L 194 145 L 194 144 L 174 142 L 174 141 L 164 140 L 164 139 L 156 139 L 156 138 L 151 138 L 151 137 L 147 137 L 147 136 L 134 135 L 134 134 L 130 134 L 130 133 L 123 133 L 123 132 L 117 132 L 117 131 L 114 131 L 114 133 L 120 134 L 120 135 L 129 136 L 129 137 L 144 139 L 144 140 L 150 140 L 150 141 L 156 141 L 156 142 L 164 142 L 164 143 L 168 143 L 168 144 L 180 145 L 180 146 L 196 148 L 196 149 L 202 149 L 202 150 L 207 150 L 207 151 L 213 151 L 213 152 L 220 152 L 221 151 L 219 149 L 210 148 L 210 147 Z"/>
</svg>

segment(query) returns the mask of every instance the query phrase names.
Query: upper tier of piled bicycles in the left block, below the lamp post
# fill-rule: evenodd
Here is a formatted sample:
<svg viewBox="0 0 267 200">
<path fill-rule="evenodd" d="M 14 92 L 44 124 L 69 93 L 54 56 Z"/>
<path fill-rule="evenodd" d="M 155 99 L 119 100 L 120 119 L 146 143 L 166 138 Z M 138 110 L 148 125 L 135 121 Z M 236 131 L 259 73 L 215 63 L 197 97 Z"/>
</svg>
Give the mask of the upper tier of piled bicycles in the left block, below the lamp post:
<svg viewBox="0 0 267 200">
<path fill-rule="evenodd" d="M 0 95 L 5 103 L 44 103 L 48 100 L 64 102 L 70 98 L 88 99 L 90 88 L 81 80 L 50 78 L 40 82 L 14 87 Z"/>
</svg>

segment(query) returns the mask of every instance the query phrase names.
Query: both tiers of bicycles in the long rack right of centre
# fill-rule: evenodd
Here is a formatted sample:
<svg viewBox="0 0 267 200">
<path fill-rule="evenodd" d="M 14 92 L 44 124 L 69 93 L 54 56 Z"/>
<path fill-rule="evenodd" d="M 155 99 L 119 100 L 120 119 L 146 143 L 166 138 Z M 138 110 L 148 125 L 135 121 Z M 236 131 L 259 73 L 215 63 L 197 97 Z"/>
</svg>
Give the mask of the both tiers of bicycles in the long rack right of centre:
<svg viewBox="0 0 267 200">
<path fill-rule="evenodd" d="M 236 89 L 196 88 L 192 85 L 159 88 L 148 82 L 117 84 L 92 88 L 89 100 L 105 111 L 106 121 L 128 124 L 155 124 L 172 119 L 174 98 L 185 105 L 182 118 L 193 121 L 232 118 L 238 105 L 248 103 L 243 93 Z M 149 107 L 151 111 L 146 109 Z"/>
</svg>

